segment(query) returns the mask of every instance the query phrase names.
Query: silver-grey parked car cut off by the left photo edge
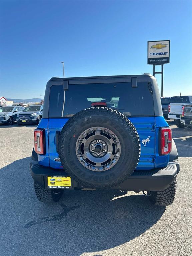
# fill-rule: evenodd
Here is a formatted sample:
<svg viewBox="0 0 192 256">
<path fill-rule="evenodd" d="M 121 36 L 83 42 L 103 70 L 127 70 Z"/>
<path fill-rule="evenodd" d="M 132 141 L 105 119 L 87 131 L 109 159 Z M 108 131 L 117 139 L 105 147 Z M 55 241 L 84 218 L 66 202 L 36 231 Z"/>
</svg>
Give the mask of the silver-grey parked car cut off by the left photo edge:
<svg viewBox="0 0 192 256">
<path fill-rule="evenodd" d="M 16 121 L 17 114 L 21 113 L 24 110 L 20 106 L 5 106 L 0 107 L 0 123 L 12 125 Z"/>
</svg>

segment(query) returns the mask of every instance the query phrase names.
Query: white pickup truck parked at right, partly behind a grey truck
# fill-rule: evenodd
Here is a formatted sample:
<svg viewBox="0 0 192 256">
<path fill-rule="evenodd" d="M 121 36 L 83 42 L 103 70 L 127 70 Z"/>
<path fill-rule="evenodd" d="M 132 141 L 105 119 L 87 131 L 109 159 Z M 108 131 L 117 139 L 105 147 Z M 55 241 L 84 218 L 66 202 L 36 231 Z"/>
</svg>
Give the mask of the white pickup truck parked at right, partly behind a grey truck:
<svg viewBox="0 0 192 256">
<path fill-rule="evenodd" d="M 185 125 L 181 123 L 180 117 L 182 115 L 182 108 L 184 105 L 191 105 L 192 96 L 174 96 L 170 99 L 169 104 L 169 119 L 174 119 L 176 121 L 176 125 L 179 128 L 184 128 Z"/>
</svg>

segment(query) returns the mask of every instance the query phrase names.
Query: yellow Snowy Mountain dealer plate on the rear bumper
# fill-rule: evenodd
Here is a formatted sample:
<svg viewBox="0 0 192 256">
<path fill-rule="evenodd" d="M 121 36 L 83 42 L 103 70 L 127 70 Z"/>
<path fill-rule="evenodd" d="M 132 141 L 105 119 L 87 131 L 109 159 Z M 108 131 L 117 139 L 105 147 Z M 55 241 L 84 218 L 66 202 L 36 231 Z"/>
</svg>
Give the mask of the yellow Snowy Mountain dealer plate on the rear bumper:
<svg viewBox="0 0 192 256">
<path fill-rule="evenodd" d="M 47 177 L 47 185 L 54 189 L 70 189 L 71 177 L 66 176 L 49 176 Z"/>
</svg>

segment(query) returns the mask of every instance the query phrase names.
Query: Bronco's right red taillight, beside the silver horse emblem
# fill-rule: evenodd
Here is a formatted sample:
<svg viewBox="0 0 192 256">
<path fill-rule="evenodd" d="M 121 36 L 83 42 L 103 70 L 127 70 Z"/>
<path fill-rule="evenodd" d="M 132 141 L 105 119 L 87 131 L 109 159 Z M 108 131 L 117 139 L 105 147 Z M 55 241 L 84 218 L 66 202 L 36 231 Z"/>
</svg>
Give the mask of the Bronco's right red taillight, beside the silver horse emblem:
<svg viewBox="0 0 192 256">
<path fill-rule="evenodd" d="M 160 154 L 166 155 L 171 152 L 171 128 L 161 128 Z"/>
</svg>

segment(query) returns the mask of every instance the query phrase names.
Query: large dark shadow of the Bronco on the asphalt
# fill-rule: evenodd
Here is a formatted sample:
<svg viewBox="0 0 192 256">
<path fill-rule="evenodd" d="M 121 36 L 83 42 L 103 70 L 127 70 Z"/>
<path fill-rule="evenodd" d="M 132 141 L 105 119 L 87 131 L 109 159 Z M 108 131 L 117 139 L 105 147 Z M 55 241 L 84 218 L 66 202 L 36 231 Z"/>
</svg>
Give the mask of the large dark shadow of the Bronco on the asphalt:
<svg viewBox="0 0 192 256">
<path fill-rule="evenodd" d="M 122 196 L 110 189 L 66 190 L 58 203 L 41 203 L 34 193 L 30 160 L 1 169 L 1 183 L 9 181 L 11 187 L 1 186 L 2 252 L 44 256 L 53 250 L 54 255 L 76 256 L 107 250 L 145 233 L 165 212 L 166 207 L 152 205 L 142 194 Z"/>
</svg>

